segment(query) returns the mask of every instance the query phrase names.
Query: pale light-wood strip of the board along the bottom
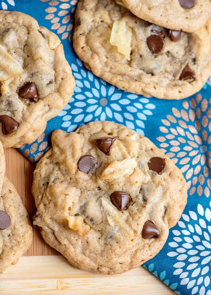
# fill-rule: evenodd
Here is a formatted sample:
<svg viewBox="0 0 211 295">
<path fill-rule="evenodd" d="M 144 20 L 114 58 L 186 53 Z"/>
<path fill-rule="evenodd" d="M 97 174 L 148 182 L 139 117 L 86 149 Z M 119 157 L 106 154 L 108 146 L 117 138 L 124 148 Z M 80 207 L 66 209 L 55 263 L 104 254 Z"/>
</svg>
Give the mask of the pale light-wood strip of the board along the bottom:
<svg viewBox="0 0 211 295">
<path fill-rule="evenodd" d="M 61 255 L 21 257 L 0 274 L 4 295 L 173 295 L 164 283 L 139 267 L 121 275 L 100 275 L 72 267 Z"/>
</svg>

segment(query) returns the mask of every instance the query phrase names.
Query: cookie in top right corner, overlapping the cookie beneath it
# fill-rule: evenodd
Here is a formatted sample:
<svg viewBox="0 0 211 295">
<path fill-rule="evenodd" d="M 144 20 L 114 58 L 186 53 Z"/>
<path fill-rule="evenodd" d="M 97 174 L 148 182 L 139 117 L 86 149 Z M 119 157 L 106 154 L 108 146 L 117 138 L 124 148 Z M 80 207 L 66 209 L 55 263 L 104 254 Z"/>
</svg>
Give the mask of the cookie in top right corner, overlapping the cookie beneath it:
<svg viewBox="0 0 211 295">
<path fill-rule="evenodd" d="M 122 1 L 137 17 L 172 30 L 195 32 L 211 16 L 210 0 Z"/>
</svg>

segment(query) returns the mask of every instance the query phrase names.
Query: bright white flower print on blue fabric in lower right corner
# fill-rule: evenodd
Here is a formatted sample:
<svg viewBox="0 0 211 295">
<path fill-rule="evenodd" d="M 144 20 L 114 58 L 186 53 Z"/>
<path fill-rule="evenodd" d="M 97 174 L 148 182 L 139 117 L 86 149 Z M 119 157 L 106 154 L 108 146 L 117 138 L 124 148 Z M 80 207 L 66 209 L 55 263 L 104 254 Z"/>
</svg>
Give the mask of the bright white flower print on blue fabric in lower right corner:
<svg viewBox="0 0 211 295">
<path fill-rule="evenodd" d="M 174 242 L 168 243 L 174 251 L 169 251 L 167 256 L 174 259 L 175 262 L 179 261 L 173 265 L 176 268 L 173 275 L 179 276 L 181 285 L 187 285 L 187 289 L 192 289 L 191 294 L 197 292 L 197 294 L 205 294 L 205 292 L 211 294 L 210 275 L 205 276 L 207 273 L 211 273 L 211 244 L 209 242 L 210 234 L 207 232 L 208 226 L 210 226 L 210 208 L 203 208 L 201 204 L 198 204 L 197 212 L 189 211 L 188 214 L 182 214 L 181 220 L 178 222 L 178 227 L 181 230 L 172 230 Z M 189 227 L 190 225 L 191 227 Z M 186 228 L 185 233 L 183 228 Z M 193 229 L 194 235 L 191 237 L 181 235 L 181 232 L 186 235 L 191 234 L 189 228 Z M 180 237 L 178 238 L 178 236 Z M 188 249 L 191 250 L 187 251 Z M 201 284 L 203 286 L 199 288 L 198 286 Z"/>
</svg>

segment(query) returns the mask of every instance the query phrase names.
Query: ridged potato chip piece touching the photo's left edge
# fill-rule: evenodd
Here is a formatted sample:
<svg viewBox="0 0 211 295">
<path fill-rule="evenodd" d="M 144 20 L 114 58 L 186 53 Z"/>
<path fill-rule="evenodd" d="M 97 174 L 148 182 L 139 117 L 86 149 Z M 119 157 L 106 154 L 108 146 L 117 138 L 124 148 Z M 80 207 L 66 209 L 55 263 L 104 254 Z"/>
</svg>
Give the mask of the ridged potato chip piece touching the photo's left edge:
<svg viewBox="0 0 211 295">
<path fill-rule="evenodd" d="M 7 80 L 22 73 L 23 68 L 0 44 L 0 80 Z"/>
</svg>

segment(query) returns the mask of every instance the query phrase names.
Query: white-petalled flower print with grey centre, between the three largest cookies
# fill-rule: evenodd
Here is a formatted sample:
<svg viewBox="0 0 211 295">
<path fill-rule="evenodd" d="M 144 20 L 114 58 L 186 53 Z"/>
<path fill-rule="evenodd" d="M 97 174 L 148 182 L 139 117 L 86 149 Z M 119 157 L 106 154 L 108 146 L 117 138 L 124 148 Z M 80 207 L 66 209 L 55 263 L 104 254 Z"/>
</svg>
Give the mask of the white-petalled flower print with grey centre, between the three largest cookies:
<svg viewBox="0 0 211 295">
<path fill-rule="evenodd" d="M 149 99 L 121 91 L 94 77 L 90 71 L 83 68 L 81 60 L 77 58 L 76 62 L 72 63 L 71 67 L 77 86 L 71 101 L 59 114 L 65 121 L 62 127 L 69 132 L 73 122 L 82 124 L 92 120 L 113 119 L 144 135 L 144 121 L 147 116 L 153 114 L 155 105 L 150 103 Z M 135 116 L 138 119 L 135 119 Z"/>
</svg>

